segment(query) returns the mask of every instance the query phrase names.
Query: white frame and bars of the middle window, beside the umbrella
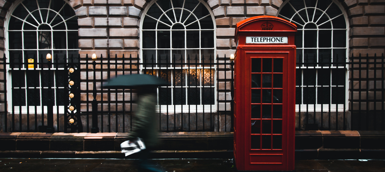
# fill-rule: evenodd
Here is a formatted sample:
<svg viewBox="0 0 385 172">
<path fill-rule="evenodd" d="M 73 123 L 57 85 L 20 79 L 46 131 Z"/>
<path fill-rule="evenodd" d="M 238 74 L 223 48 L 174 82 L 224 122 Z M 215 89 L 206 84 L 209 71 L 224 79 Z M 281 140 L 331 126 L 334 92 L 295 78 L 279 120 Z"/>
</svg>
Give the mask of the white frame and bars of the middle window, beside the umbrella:
<svg viewBox="0 0 385 172">
<path fill-rule="evenodd" d="M 154 63 L 156 63 L 156 61 L 157 61 L 157 56 L 158 56 L 158 51 L 157 50 L 164 50 L 164 48 L 157 48 L 157 40 L 155 40 L 155 43 L 156 43 L 156 45 L 155 45 L 155 48 L 143 48 L 142 47 L 142 38 L 143 38 L 143 36 L 142 36 L 142 31 L 146 31 L 146 30 L 144 30 L 144 29 L 142 29 L 142 26 L 143 26 L 143 22 L 144 22 L 144 17 L 146 17 L 146 16 L 148 16 L 147 15 L 147 11 L 150 9 L 150 7 L 152 7 L 152 5 L 157 5 L 157 2 L 158 0 L 152 0 L 152 2 L 150 2 L 150 3 L 148 3 L 148 5 L 147 5 L 147 7 L 146 7 L 146 9 L 144 10 L 144 12 L 142 13 L 142 16 L 141 16 L 141 20 L 140 20 L 140 26 L 139 26 L 139 32 L 140 32 L 140 36 L 139 36 L 139 38 L 140 38 L 140 41 L 139 41 L 139 45 L 140 45 L 140 52 L 142 52 L 142 50 L 155 50 L 155 52 L 156 52 L 156 54 L 154 55 L 154 58 L 155 58 L 155 60 L 154 60 Z M 172 0 L 170 0 L 171 2 L 172 2 Z M 187 0 L 185 0 L 184 2 L 186 2 Z M 187 63 L 187 51 L 186 50 L 214 50 L 214 56 L 212 57 L 213 58 L 213 60 L 212 60 L 212 63 L 216 63 L 216 23 L 215 23 L 215 18 L 214 18 L 214 14 L 213 14 L 213 12 L 210 10 L 211 8 L 206 4 L 206 2 L 204 2 L 204 1 L 202 1 L 202 0 L 198 0 L 199 1 L 199 4 L 202 4 L 202 5 L 204 5 L 204 7 L 206 7 L 207 8 L 207 10 L 209 11 L 209 15 L 207 15 L 207 16 L 205 16 L 205 17 L 203 17 L 203 18 L 206 18 L 206 17 L 211 17 L 211 20 L 213 21 L 213 25 L 214 25 L 214 28 L 213 29 L 187 29 L 187 30 L 189 30 L 189 31 L 202 31 L 202 30 L 213 30 L 214 31 L 214 47 L 213 48 L 201 48 L 201 42 L 199 43 L 199 48 L 172 48 L 172 26 L 170 27 L 170 29 L 169 30 L 164 30 L 164 31 L 170 31 L 170 48 L 166 48 L 166 49 L 169 49 L 170 50 L 170 57 L 172 57 L 173 55 L 172 55 L 172 50 L 184 50 L 184 60 L 185 60 L 185 62 L 184 63 Z M 172 3 L 171 3 L 172 4 Z M 197 6 L 196 7 L 198 7 L 198 5 L 199 4 L 197 4 Z M 158 5 L 158 7 L 162 10 L 162 8 Z M 181 9 L 182 10 L 182 12 L 183 12 L 183 10 L 187 10 L 187 9 L 185 9 L 185 8 L 174 8 L 173 6 L 172 6 L 172 8 L 171 9 L 169 9 L 169 10 L 167 10 L 167 11 L 163 11 L 162 10 L 162 12 L 163 12 L 163 14 L 159 17 L 159 18 L 161 18 L 163 15 L 166 15 L 166 12 L 168 12 L 168 11 L 171 11 L 171 10 L 173 10 L 173 9 Z M 189 11 L 189 10 L 187 10 L 187 11 Z M 173 10 L 173 12 L 174 12 L 174 10 Z M 175 12 L 174 12 L 175 13 Z M 194 15 L 193 13 L 191 13 L 190 15 Z M 175 15 L 174 15 L 175 16 Z M 151 16 L 149 16 L 149 17 L 151 17 Z M 166 17 L 169 19 L 169 17 L 166 15 Z M 152 19 L 154 19 L 154 20 L 158 20 L 158 19 L 155 19 L 155 18 L 153 18 L 153 17 L 151 17 Z M 187 17 L 186 18 L 186 20 L 184 21 L 184 22 L 186 22 L 187 21 L 187 19 L 188 19 L 189 17 Z M 201 19 L 203 19 L 203 18 L 201 18 Z M 175 18 L 176 19 L 176 18 Z M 198 21 L 198 20 L 200 20 L 200 19 L 198 19 L 198 18 L 196 18 L 196 20 Z M 170 20 L 169 19 L 169 21 L 172 23 L 172 25 L 174 25 L 174 24 L 182 24 L 183 25 L 183 23 L 184 22 L 181 22 L 181 18 L 179 18 L 179 22 L 172 22 L 172 20 Z M 177 20 L 175 20 L 175 21 L 177 21 Z M 161 22 L 161 21 L 159 21 L 159 22 Z M 158 23 L 159 23 L 158 22 Z M 199 22 L 198 22 L 199 23 Z M 164 23 L 165 24 L 165 23 Z M 191 23 L 192 24 L 192 23 Z M 199 23 L 199 27 L 200 27 L 200 23 Z M 155 33 L 157 34 L 157 31 L 158 31 L 158 29 L 157 29 L 157 25 L 156 25 L 156 29 L 151 29 L 151 30 L 149 30 L 149 31 L 155 31 Z M 178 30 L 178 31 L 185 31 L 185 34 L 184 34 L 184 36 L 185 36 L 185 39 L 184 39 L 184 41 L 185 41 L 185 47 L 187 46 L 187 43 L 186 43 L 186 26 L 185 26 L 185 29 L 183 30 Z M 199 37 L 201 37 L 201 32 L 199 32 Z M 157 37 L 156 37 L 157 38 Z M 202 53 L 200 53 L 199 54 L 199 56 L 198 56 L 198 58 L 199 58 L 199 63 L 201 63 L 201 54 Z M 144 62 L 144 55 L 143 55 L 143 53 L 140 53 L 140 62 L 141 63 L 143 63 Z M 176 57 L 176 59 L 177 59 L 178 57 Z M 190 60 L 190 62 L 191 62 L 191 65 L 193 65 L 194 64 L 194 58 L 195 57 L 190 57 L 191 58 L 191 60 Z M 208 57 L 205 57 L 205 59 L 208 59 Z M 170 62 L 172 63 L 172 58 L 170 58 Z M 146 61 L 146 63 L 151 63 L 151 61 Z M 140 67 L 139 67 L 139 71 L 140 71 L 140 73 L 142 73 L 142 70 L 144 69 L 144 66 L 143 65 L 141 65 Z M 171 70 L 171 79 L 172 79 L 172 74 L 173 74 L 173 72 L 172 72 L 172 69 L 189 69 L 188 68 L 188 65 L 184 65 L 184 66 L 182 66 L 182 68 L 181 67 L 168 67 L 168 68 L 163 68 L 163 67 L 158 67 L 158 66 L 154 66 L 154 68 L 146 68 L 146 69 L 155 69 L 156 71 L 158 71 L 158 72 L 156 72 L 157 74 L 159 73 L 159 69 L 169 69 L 169 70 Z M 210 67 L 203 67 L 203 66 L 201 66 L 201 65 L 199 65 L 199 67 L 197 67 L 197 68 L 195 68 L 195 67 L 190 67 L 190 69 L 191 70 L 195 70 L 195 69 L 213 69 L 213 71 L 214 71 L 214 75 L 213 75 L 213 77 L 214 77 L 214 80 L 213 80 L 213 82 L 214 82 L 214 86 L 205 86 L 204 88 L 214 88 L 214 104 L 205 104 L 205 105 L 202 105 L 201 103 L 202 103 L 202 95 L 200 95 L 199 96 L 199 99 L 200 99 L 200 104 L 198 105 L 198 106 L 196 106 L 195 104 L 191 104 L 191 105 L 188 105 L 188 104 L 186 104 L 186 105 L 173 105 L 172 103 L 174 102 L 174 100 L 173 100 L 173 98 L 174 98 L 174 96 L 173 96 L 173 90 L 174 89 L 172 89 L 172 88 L 181 88 L 181 87 L 183 87 L 183 88 L 186 88 L 186 96 L 185 96 L 185 98 L 186 98 L 186 103 L 187 103 L 187 88 L 189 88 L 189 86 L 187 86 L 187 76 L 188 76 L 188 74 L 187 74 L 187 72 L 185 72 L 185 79 L 186 79 L 186 86 L 169 86 L 168 88 L 171 88 L 171 104 L 172 105 L 157 105 L 156 106 L 156 110 L 159 112 L 159 109 L 160 109 L 160 111 L 161 112 L 167 112 L 167 109 L 168 109 L 168 112 L 188 112 L 188 111 L 190 111 L 190 112 L 196 112 L 196 111 L 198 111 L 198 112 L 216 112 L 217 111 L 217 107 L 218 107 L 218 102 L 217 102 L 217 79 L 216 79 L 216 77 L 217 77 L 217 70 L 216 70 L 216 65 L 213 65 L 211 68 Z M 203 73 L 201 73 L 200 74 L 200 78 L 199 78 L 199 82 L 200 82 L 200 85 L 199 86 L 197 86 L 197 88 L 203 88 Z M 171 82 L 171 83 L 173 83 L 173 82 Z M 167 87 L 164 87 L 164 88 L 167 88 Z M 195 86 L 191 86 L 190 88 L 196 88 Z M 159 95 L 159 89 L 157 89 L 158 90 L 158 95 Z M 202 89 L 200 89 L 201 91 L 200 91 L 200 93 L 202 94 L 203 92 L 202 92 Z M 158 100 L 157 100 L 157 104 L 159 104 L 159 96 L 157 96 L 157 98 L 158 98 Z M 168 106 L 168 107 L 167 107 Z M 174 107 L 175 107 L 175 109 L 174 109 Z"/>
</svg>

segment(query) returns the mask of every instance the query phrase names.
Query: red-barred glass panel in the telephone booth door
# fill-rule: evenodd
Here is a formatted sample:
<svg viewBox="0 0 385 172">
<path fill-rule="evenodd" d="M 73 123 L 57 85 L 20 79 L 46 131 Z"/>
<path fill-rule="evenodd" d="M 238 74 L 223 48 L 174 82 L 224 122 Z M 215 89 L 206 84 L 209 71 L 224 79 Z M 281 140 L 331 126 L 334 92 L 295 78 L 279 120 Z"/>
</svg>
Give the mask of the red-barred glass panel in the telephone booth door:
<svg viewBox="0 0 385 172">
<path fill-rule="evenodd" d="M 251 65 L 251 149 L 282 149 L 283 58 Z"/>
</svg>

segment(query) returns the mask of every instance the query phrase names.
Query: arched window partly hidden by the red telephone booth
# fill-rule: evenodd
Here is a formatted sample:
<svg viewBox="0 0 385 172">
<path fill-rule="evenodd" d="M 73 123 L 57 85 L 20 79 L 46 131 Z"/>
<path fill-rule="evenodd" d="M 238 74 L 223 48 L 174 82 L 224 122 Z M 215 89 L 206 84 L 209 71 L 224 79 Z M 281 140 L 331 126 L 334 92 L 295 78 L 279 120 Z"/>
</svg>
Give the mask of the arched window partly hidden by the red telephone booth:
<svg viewBox="0 0 385 172">
<path fill-rule="evenodd" d="M 345 62 L 347 25 L 340 7 L 332 0 L 288 0 L 278 17 L 298 26 L 295 36 L 297 62 Z M 316 104 L 316 109 L 346 103 L 346 66 L 297 65 L 296 104 Z M 334 108 L 333 108 L 334 105 Z M 343 107 L 343 106 L 342 106 Z M 306 107 L 307 108 L 307 107 Z M 313 108 L 313 106 L 311 107 Z"/>
</svg>

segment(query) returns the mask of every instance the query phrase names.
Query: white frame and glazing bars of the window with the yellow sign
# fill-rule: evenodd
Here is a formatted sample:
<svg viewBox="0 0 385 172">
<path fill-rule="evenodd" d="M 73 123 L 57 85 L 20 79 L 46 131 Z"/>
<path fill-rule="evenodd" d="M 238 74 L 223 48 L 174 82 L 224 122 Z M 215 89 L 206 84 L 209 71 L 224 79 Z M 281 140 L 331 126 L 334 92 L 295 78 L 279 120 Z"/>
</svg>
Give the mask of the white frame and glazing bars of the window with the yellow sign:
<svg viewBox="0 0 385 172">
<path fill-rule="evenodd" d="M 7 62 L 9 63 L 10 61 L 10 57 L 9 57 L 9 55 L 10 55 L 10 53 L 9 53 L 9 51 L 10 51 L 10 49 L 9 49 L 9 45 L 8 45 L 8 32 L 9 31 L 12 31 L 12 30 L 8 30 L 8 26 L 9 26 L 9 23 L 10 23 L 10 18 L 11 18 L 11 16 L 12 17 L 15 17 L 15 16 L 13 16 L 12 14 L 13 14 L 13 12 L 15 11 L 15 9 L 19 6 L 19 5 L 23 5 L 24 6 L 24 8 L 25 8 L 25 5 L 22 3 L 24 0 L 17 0 L 16 2 L 14 2 L 14 3 L 12 3 L 12 6 L 11 6 L 11 8 L 7 11 L 7 15 L 6 15 L 6 17 L 5 17 L 5 23 L 4 23 L 4 32 L 5 32 L 5 38 L 4 38 L 4 41 L 5 41 L 5 54 L 6 54 L 6 57 L 7 57 Z M 54 1 L 54 0 L 49 0 L 50 1 L 50 4 L 49 4 L 49 7 L 51 7 L 51 2 L 52 1 Z M 62 0 L 62 1 L 64 1 L 65 3 L 67 3 L 67 5 L 69 5 L 69 7 L 71 7 L 71 5 L 70 5 L 70 3 L 69 3 L 69 1 L 68 0 Z M 48 20 L 48 17 L 49 17 L 49 13 L 47 14 L 47 18 L 45 19 L 45 22 L 43 22 L 44 21 L 44 19 L 42 18 L 42 15 L 41 15 L 41 13 L 40 13 L 40 21 L 39 21 L 39 18 L 35 18 L 35 17 L 33 17 L 33 15 L 32 15 L 32 17 L 35 19 L 35 21 L 39 24 L 39 26 L 37 26 L 37 28 L 36 28 L 36 30 L 23 30 L 23 26 L 24 26 L 24 24 L 25 24 L 25 22 L 23 22 L 23 25 L 22 25 L 22 30 L 14 30 L 14 31 L 22 31 L 22 49 L 12 49 L 12 50 L 18 50 L 18 51 L 22 51 L 22 59 L 24 58 L 24 51 L 25 50 L 32 50 L 32 51 L 39 51 L 39 50 L 43 50 L 43 51 L 50 51 L 50 54 L 52 55 L 52 61 L 55 61 L 55 56 L 54 56 L 54 53 L 53 53 L 53 51 L 56 51 L 56 50 L 62 50 L 62 51 L 65 51 L 66 53 L 66 56 L 67 56 L 67 58 L 70 56 L 69 55 L 69 51 L 74 51 L 74 50 L 80 50 L 80 49 L 69 49 L 68 48 L 68 31 L 78 31 L 78 30 L 68 30 L 67 29 L 67 23 L 66 23 L 66 21 L 67 20 L 70 20 L 70 19 L 72 19 L 72 18 L 74 18 L 74 17 L 76 17 L 76 15 L 74 15 L 73 17 L 70 17 L 70 18 L 68 18 L 68 19 L 66 19 L 66 20 L 64 20 L 64 18 L 59 14 L 59 12 L 56 12 L 55 10 L 52 10 L 52 9 L 48 9 L 48 8 L 40 8 L 39 7 L 39 3 L 38 3 L 38 1 L 36 0 L 36 2 L 37 2 L 37 5 L 38 5 L 38 9 L 37 10 L 41 10 L 41 9 L 45 9 L 45 10 L 50 10 L 50 11 L 52 11 L 52 12 L 55 12 L 56 13 L 56 17 L 55 18 L 57 18 L 57 17 L 61 17 L 62 18 L 62 20 L 63 20 L 63 22 L 64 22 L 64 24 L 65 24 L 65 27 L 66 27 L 66 30 L 53 30 L 52 29 L 52 27 L 53 26 L 51 26 L 51 25 L 49 25 L 50 27 L 51 27 L 51 30 L 37 30 L 38 29 L 38 27 L 40 26 L 40 25 L 42 25 L 42 24 L 50 24 L 50 23 L 52 23 L 53 21 L 54 21 L 54 19 L 55 18 L 53 18 L 52 19 L 52 21 L 50 22 L 50 23 L 47 23 L 47 20 Z M 65 5 L 63 5 L 63 7 L 64 7 Z M 63 10 L 64 8 L 61 8 L 61 10 Z M 72 8 L 72 7 L 71 7 Z M 37 11 L 37 10 L 34 10 L 33 12 L 30 12 L 27 8 L 25 8 L 26 10 L 27 10 L 27 12 L 29 12 L 29 15 L 31 15 L 33 12 L 35 12 L 35 11 Z M 60 10 L 60 11 L 61 11 Z M 74 10 L 74 8 L 72 8 L 72 10 Z M 75 11 L 75 10 L 74 10 Z M 28 15 L 26 16 L 26 18 L 28 17 Z M 17 17 L 15 17 L 15 18 L 17 18 Z M 19 19 L 19 20 L 22 20 L 22 21 L 25 21 L 25 19 L 23 20 L 23 19 Z M 63 22 L 60 22 L 60 23 L 58 23 L 57 25 L 59 25 L 59 24 L 61 24 L 61 23 L 63 23 Z M 55 25 L 55 26 L 57 26 L 57 25 Z M 37 32 L 37 39 L 36 39 L 36 41 L 37 41 L 37 49 L 24 49 L 24 34 L 23 34 L 23 31 L 36 31 Z M 39 49 L 39 31 L 51 31 L 51 48 L 50 49 Z M 54 49 L 54 40 L 53 40 L 53 32 L 52 31 L 65 31 L 66 32 L 66 49 Z M 45 58 L 45 55 L 43 55 L 44 57 L 43 58 Z M 40 61 L 40 56 L 39 55 L 37 55 L 36 56 L 37 57 L 37 62 L 39 62 Z M 76 56 L 77 57 L 77 56 Z M 59 57 L 59 58 L 63 58 L 63 57 Z M 68 62 L 68 59 L 67 59 L 67 62 Z M 25 65 L 25 64 L 23 64 L 23 66 L 20 68 L 20 70 L 22 70 L 22 71 L 28 71 L 28 70 L 34 70 L 34 69 L 28 69 L 28 68 L 26 68 L 27 67 L 27 65 Z M 39 65 L 38 65 L 38 67 L 39 67 Z M 50 68 L 51 70 L 53 70 L 54 71 L 54 76 L 53 76 L 53 78 L 54 78 L 54 80 L 52 81 L 53 83 L 54 83 L 54 86 L 53 87 L 51 87 L 52 88 L 52 90 L 54 90 L 55 92 L 55 94 L 53 95 L 54 96 L 54 106 L 53 106 L 53 113 L 54 114 L 56 114 L 57 113 L 57 106 L 56 106 L 56 89 L 63 89 L 63 88 L 65 88 L 65 87 L 56 87 L 56 77 L 55 77 L 55 70 L 56 70 L 56 68 L 54 67 L 54 65 L 51 65 L 51 68 Z M 58 70 L 67 70 L 66 68 L 57 68 Z M 9 66 L 9 64 L 7 65 L 7 69 L 6 69 L 6 71 L 7 71 L 7 93 L 6 94 L 8 94 L 8 95 L 11 95 L 11 96 L 7 96 L 7 102 L 8 102 L 8 112 L 10 112 L 10 113 L 12 113 L 12 74 L 10 73 L 10 70 L 11 70 L 11 68 L 10 68 L 10 66 Z M 14 70 L 19 70 L 19 68 L 14 68 Z M 37 70 L 37 71 L 41 71 L 41 70 L 45 70 L 45 71 L 48 71 L 49 69 L 48 68 L 35 68 L 35 70 Z M 26 74 L 26 72 L 25 72 L 25 77 L 24 77 L 24 79 L 25 79 L 25 86 L 24 87 L 22 87 L 21 89 L 25 89 L 25 102 L 26 102 L 26 104 L 27 104 L 27 74 Z M 35 87 L 28 87 L 29 89 L 30 88 L 35 88 Z M 15 89 L 19 89 L 19 88 L 16 88 L 15 87 Z M 39 87 L 37 87 L 36 89 L 38 89 L 39 90 L 39 92 L 40 92 L 40 106 L 36 106 L 36 109 L 37 109 L 37 114 L 41 114 L 42 112 L 43 112 L 43 108 L 44 108 L 44 113 L 46 113 L 47 112 L 47 106 L 43 106 L 43 101 L 42 101 L 42 83 L 41 83 L 41 72 L 39 72 Z M 43 87 L 43 89 L 48 89 L 48 87 Z M 29 107 L 29 113 L 30 114 L 32 114 L 32 113 L 35 113 L 35 106 L 30 106 L 30 105 L 28 105 L 28 107 Z M 14 109 L 15 109 L 15 111 L 14 111 L 14 113 L 16 114 L 16 113 L 20 113 L 20 107 L 19 106 L 15 106 L 14 107 Z M 27 106 L 22 106 L 22 110 L 21 110 L 21 112 L 23 113 L 23 114 L 26 114 L 27 113 Z M 65 112 L 65 110 L 64 110 L 64 106 L 59 106 L 59 113 L 60 114 L 63 114 Z"/>
</svg>

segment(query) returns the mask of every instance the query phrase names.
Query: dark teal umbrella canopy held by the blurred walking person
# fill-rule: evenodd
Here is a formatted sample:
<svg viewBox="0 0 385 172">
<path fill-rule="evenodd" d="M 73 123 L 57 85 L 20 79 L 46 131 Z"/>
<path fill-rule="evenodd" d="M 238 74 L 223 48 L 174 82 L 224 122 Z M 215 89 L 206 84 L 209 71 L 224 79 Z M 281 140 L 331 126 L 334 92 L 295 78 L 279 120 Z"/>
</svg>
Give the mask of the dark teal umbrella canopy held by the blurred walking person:
<svg viewBox="0 0 385 172">
<path fill-rule="evenodd" d="M 154 75 L 149 74 L 131 74 L 131 75 L 120 75 L 115 79 L 111 79 L 107 84 L 103 85 L 103 88 L 107 89 L 129 89 L 140 86 L 167 86 L 165 80 L 157 78 Z"/>
</svg>

